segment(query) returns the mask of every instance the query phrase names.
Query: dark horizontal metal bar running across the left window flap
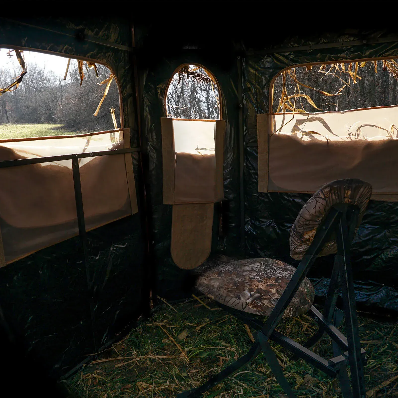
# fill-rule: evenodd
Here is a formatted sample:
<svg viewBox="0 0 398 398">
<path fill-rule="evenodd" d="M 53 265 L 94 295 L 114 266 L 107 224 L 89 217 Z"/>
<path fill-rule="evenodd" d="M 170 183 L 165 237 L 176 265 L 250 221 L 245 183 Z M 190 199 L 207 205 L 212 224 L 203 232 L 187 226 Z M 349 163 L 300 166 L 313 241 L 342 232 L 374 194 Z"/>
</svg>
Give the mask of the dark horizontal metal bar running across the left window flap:
<svg viewBox="0 0 398 398">
<path fill-rule="evenodd" d="M 47 162 L 59 162 L 60 160 L 72 160 L 73 158 L 92 158 L 95 156 L 108 156 L 108 155 L 119 155 L 129 152 L 140 152 L 140 148 L 121 148 L 121 149 L 110 149 L 103 150 L 100 152 L 85 152 L 70 155 L 58 155 L 58 156 L 46 156 L 41 158 L 29 158 L 29 159 L 17 159 L 17 160 L 2 160 L 0 161 L 0 168 L 15 167 L 15 166 L 26 166 L 28 164 L 47 163 Z"/>
</svg>

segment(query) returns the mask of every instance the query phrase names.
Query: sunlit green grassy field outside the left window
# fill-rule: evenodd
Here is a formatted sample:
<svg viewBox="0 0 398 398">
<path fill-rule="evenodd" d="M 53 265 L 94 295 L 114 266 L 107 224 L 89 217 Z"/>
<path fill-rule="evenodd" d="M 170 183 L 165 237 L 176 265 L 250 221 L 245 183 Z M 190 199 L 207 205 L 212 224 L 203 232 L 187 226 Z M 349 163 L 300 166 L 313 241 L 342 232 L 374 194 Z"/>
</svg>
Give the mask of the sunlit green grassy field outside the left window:
<svg viewBox="0 0 398 398">
<path fill-rule="evenodd" d="M 80 134 L 82 131 L 70 131 L 63 125 L 41 124 L 0 124 L 0 140 L 10 138 L 47 137 L 50 135 Z"/>
</svg>

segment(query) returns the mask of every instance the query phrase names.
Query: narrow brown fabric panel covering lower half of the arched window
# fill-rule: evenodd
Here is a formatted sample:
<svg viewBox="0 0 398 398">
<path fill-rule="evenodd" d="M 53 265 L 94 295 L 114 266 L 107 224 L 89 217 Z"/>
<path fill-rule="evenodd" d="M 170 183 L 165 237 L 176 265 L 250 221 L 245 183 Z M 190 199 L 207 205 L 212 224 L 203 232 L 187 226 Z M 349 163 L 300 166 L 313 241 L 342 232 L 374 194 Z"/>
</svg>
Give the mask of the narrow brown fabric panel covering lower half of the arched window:
<svg viewBox="0 0 398 398">
<path fill-rule="evenodd" d="M 163 203 L 223 199 L 224 121 L 162 118 Z"/>
</svg>

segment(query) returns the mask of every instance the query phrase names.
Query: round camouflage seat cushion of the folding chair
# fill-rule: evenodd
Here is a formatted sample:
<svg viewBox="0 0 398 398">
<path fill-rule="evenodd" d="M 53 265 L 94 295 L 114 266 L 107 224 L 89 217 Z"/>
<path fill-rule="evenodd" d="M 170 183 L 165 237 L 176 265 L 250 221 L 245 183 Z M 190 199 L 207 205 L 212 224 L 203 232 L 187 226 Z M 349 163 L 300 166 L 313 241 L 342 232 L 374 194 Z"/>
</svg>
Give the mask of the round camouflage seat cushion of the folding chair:
<svg viewBox="0 0 398 398">
<path fill-rule="evenodd" d="M 289 283 L 295 268 L 271 258 L 237 261 L 205 261 L 195 273 L 199 274 L 196 288 L 224 305 L 269 316 Z M 305 278 L 284 317 L 307 312 L 314 300 L 314 287 Z"/>
</svg>

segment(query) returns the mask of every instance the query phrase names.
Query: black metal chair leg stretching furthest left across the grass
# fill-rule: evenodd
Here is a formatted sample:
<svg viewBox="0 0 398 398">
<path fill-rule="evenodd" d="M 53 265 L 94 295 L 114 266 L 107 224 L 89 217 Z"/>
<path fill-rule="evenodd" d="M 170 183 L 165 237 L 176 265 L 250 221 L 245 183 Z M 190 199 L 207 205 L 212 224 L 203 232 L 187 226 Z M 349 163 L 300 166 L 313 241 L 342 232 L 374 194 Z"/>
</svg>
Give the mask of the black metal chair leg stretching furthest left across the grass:
<svg viewBox="0 0 398 398">
<path fill-rule="evenodd" d="M 261 352 L 261 347 L 258 341 L 253 343 L 252 347 L 248 351 L 247 354 L 243 355 L 239 359 L 237 359 L 234 363 L 227 366 L 220 373 L 213 376 L 207 382 L 202 384 L 197 388 L 193 388 L 189 391 L 181 392 L 177 395 L 177 398 L 200 398 L 203 394 L 210 390 L 210 388 L 217 386 L 222 380 L 224 380 L 229 375 L 232 375 L 235 371 L 237 371 L 240 367 L 246 365 L 248 362 L 252 361 L 257 355 Z"/>
</svg>

